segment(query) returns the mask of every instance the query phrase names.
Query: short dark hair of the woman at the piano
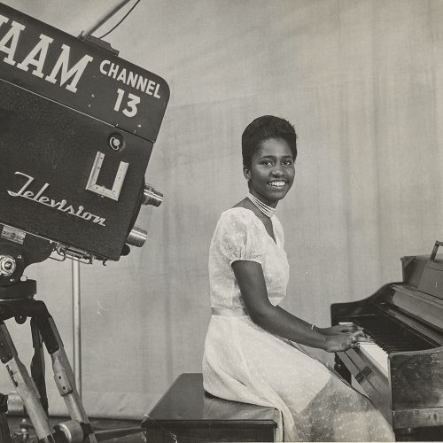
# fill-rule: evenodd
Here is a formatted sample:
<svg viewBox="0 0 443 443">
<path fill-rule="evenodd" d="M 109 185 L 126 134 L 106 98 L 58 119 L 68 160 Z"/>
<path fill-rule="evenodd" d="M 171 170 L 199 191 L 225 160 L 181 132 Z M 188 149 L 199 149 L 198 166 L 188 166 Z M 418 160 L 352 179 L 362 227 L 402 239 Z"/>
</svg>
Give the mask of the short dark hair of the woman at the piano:
<svg viewBox="0 0 443 443">
<path fill-rule="evenodd" d="M 292 158 L 297 157 L 297 134 L 288 120 L 274 115 L 262 115 L 245 128 L 242 135 L 243 165 L 251 167 L 253 154 L 269 138 L 283 138 L 291 148 Z"/>
</svg>

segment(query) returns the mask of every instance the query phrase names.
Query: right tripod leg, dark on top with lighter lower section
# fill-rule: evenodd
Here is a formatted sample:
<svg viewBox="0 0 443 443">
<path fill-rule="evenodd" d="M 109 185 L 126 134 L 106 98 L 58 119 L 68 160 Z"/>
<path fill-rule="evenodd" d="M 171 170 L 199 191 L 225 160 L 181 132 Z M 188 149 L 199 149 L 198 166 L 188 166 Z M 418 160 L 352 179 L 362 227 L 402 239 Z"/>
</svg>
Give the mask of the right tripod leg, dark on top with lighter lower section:
<svg viewBox="0 0 443 443">
<path fill-rule="evenodd" d="M 41 302 L 41 312 L 37 318 L 40 332 L 44 344 L 51 355 L 52 369 L 54 379 L 58 387 L 58 392 L 65 400 L 69 415 L 75 421 L 81 424 L 85 443 L 97 443 L 97 438 L 92 431 L 89 418 L 82 405 L 82 400 L 75 387 L 74 372 L 67 359 L 65 348 L 58 335 L 57 327 L 48 313 L 44 303 Z"/>
</svg>

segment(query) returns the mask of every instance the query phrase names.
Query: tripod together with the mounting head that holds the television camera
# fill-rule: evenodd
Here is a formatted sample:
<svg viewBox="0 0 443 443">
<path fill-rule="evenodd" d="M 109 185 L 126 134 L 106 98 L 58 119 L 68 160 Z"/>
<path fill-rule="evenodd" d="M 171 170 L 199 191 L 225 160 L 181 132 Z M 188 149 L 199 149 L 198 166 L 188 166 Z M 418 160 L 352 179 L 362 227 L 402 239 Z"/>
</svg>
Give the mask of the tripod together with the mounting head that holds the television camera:
<svg viewBox="0 0 443 443">
<path fill-rule="evenodd" d="M 22 244 L 0 238 L 0 361 L 4 363 L 16 392 L 23 400 L 39 441 L 97 443 L 76 390 L 74 373 L 54 320 L 44 302 L 34 299 L 35 280 L 27 280 L 22 276 L 27 265 L 45 260 L 51 255 L 52 249 L 51 242 L 39 237 L 27 236 Z M 25 323 L 27 317 L 31 319 L 34 347 L 31 375 L 19 360 L 4 323 L 12 317 L 17 323 Z M 56 424 L 53 429 L 48 418 L 43 345 L 51 355 L 58 392 L 65 400 L 71 416 L 71 420 Z M 0 443 L 11 441 L 6 411 L 7 397 L 0 394 Z"/>
</svg>

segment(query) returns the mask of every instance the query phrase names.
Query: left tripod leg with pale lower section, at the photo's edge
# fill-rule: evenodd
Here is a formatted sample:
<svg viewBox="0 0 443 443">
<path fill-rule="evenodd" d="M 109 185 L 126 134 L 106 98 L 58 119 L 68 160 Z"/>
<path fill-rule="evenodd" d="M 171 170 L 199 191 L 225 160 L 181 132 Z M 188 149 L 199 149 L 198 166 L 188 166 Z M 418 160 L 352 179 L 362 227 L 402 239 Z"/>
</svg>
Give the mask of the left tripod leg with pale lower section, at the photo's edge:
<svg viewBox="0 0 443 443">
<path fill-rule="evenodd" d="M 55 443 L 34 381 L 27 373 L 25 365 L 19 361 L 19 355 L 4 322 L 0 322 L 0 360 L 4 363 L 16 391 L 25 403 L 37 437 L 43 442 Z"/>
</svg>

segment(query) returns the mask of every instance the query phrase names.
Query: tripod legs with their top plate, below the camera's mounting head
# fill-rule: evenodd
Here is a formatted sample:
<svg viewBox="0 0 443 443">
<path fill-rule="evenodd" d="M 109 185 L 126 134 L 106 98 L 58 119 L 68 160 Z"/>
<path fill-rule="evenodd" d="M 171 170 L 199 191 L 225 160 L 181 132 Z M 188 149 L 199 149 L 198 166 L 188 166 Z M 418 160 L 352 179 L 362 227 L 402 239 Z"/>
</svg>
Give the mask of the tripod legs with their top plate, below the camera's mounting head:
<svg viewBox="0 0 443 443">
<path fill-rule="evenodd" d="M 97 443 L 82 406 L 82 400 L 75 388 L 74 373 L 57 327 L 43 301 L 34 299 L 35 293 L 35 280 L 20 281 L 12 286 L 0 287 L 0 360 L 4 363 L 12 384 L 27 408 L 27 414 L 34 425 L 39 441 Z M 15 317 L 18 323 L 24 323 L 27 317 L 31 318 L 35 351 L 31 361 L 31 376 L 23 363 L 19 361 L 17 350 L 4 324 L 5 320 L 12 317 Z M 56 424 L 54 429 L 51 429 L 48 419 L 43 344 L 51 355 L 58 392 L 65 400 L 66 408 L 71 416 L 71 420 Z M 1 408 L 1 400 L 0 397 L 0 443 L 9 443 L 11 439 L 7 422 L 4 420 L 5 411 Z"/>
</svg>

